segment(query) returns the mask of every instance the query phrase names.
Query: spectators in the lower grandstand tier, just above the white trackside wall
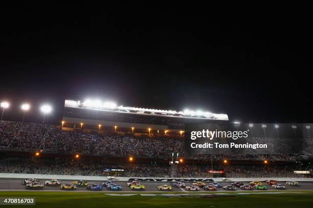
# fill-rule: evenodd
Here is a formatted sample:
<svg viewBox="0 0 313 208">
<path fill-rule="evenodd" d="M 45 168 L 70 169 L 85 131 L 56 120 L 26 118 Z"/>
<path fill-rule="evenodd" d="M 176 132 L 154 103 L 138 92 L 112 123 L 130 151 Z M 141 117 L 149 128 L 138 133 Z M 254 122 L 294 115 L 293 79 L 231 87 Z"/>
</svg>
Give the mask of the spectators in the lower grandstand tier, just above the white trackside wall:
<svg viewBox="0 0 313 208">
<path fill-rule="evenodd" d="M 90 175 L 90 176 L 125 176 L 125 177 L 170 177 L 171 168 L 167 163 L 123 163 L 103 160 L 73 160 L 73 159 L 39 159 L 39 158 L 9 158 L 0 159 L 0 172 L 60 174 L 60 175 Z M 309 177 L 310 175 L 295 174 L 296 167 L 271 165 L 234 165 L 214 166 L 215 170 L 224 170 L 225 174 L 215 177 Z M 123 171 L 108 171 L 122 169 Z M 180 164 L 175 177 L 212 177 L 208 164 Z M 308 170 L 312 171 L 311 168 Z"/>
</svg>

